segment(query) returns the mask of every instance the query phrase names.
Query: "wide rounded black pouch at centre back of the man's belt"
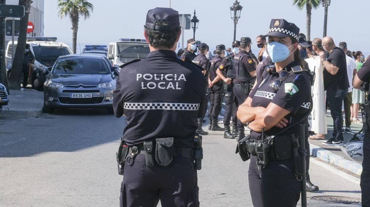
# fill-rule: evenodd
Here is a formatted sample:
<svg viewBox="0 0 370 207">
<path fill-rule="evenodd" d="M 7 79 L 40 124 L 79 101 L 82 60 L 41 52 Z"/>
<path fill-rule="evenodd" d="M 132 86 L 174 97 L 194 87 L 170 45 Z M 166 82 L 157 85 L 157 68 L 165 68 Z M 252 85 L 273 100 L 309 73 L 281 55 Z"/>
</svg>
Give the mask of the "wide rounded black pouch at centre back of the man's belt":
<svg viewBox="0 0 370 207">
<path fill-rule="evenodd" d="M 155 161 L 160 166 L 168 167 L 173 160 L 174 137 L 155 139 Z"/>
</svg>

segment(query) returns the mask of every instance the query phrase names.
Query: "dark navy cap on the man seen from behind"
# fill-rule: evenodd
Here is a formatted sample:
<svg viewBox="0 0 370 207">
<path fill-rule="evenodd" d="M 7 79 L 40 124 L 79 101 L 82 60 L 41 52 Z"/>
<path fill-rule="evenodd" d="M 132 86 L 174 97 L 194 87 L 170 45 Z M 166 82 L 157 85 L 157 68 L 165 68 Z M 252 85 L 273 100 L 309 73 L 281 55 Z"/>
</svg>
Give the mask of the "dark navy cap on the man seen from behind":
<svg viewBox="0 0 370 207">
<path fill-rule="evenodd" d="M 145 27 L 152 30 L 175 30 L 180 27 L 179 12 L 171 8 L 155 8 L 147 13 Z"/>
</svg>

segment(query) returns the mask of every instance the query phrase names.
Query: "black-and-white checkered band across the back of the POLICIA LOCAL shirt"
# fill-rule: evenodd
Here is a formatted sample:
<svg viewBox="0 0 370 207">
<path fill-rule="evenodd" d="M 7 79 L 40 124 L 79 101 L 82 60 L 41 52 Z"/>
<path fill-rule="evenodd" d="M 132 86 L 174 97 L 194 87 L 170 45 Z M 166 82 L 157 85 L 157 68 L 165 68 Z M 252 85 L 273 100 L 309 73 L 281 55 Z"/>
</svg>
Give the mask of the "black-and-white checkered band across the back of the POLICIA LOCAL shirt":
<svg viewBox="0 0 370 207">
<path fill-rule="evenodd" d="M 200 104 L 190 103 L 123 103 L 124 109 L 131 110 L 181 110 L 196 111 L 199 110 Z"/>
</svg>

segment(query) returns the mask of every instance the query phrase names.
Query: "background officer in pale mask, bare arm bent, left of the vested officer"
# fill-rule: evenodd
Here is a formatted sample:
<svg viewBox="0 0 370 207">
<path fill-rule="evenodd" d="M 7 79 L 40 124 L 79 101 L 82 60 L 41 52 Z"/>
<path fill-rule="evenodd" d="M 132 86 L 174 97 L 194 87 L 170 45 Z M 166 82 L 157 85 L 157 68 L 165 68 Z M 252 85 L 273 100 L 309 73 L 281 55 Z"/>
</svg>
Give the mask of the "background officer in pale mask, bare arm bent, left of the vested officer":
<svg viewBox="0 0 370 207">
<path fill-rule="evenodd" d="M 236 123 L 238 118 L 236 117 L 236 110 L 238 101 L 235 98 L 233 93 L 233 69 L 232 69 L 232 62 L 234 60 L 234 56 L 236 53 L 239 52 L 240 41 L 233 41 L 232 42 L 232 51 L 230 55 L 226 56 L 225 59 L 222 60 L 220 66 L 218 67 L 216 73 L 217 75 L 225 82 L 225 115 L 223 116 L 223 125 L 225 126 L 225 133 L 223 134 L 223 138 L 233 139 L 235 138 L 234 135 L 230 132 L 230 120 L 232 116 L 232 123 L 233 123 L 233 133 L 235 132 L 236 136 L 238 135 L 236 129 Z M 235 53 L 234 53 L 235 52 Z M 225 77 L 226 76 L 226 77 Z"/>
</svg>

